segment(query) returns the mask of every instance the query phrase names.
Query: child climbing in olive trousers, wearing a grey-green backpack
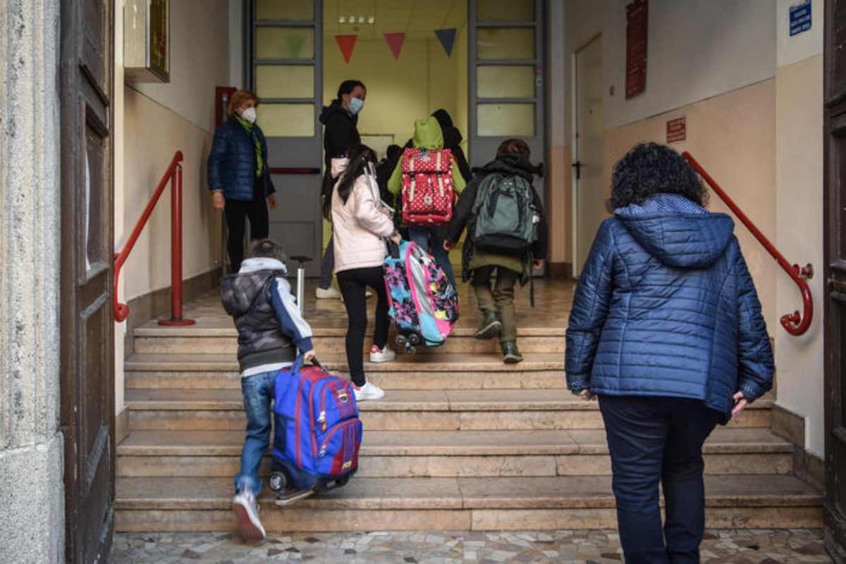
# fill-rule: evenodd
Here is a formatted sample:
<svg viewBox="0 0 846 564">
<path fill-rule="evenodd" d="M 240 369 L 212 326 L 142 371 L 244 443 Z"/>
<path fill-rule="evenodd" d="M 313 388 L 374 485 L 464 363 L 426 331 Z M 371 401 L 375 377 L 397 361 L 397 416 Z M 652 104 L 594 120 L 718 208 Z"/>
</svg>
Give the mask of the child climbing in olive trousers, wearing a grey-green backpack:
<svg viewBox="0 0 846 564">
<path fill-rule="evenodd" d="M 503 361 L 523 361 L 517 348 L 514 286 L 530 280 L 532 267 L 547 257 L 547 221 L 532 187 L 529 145 L 506 139 L 497 158 L 467 186 L 447 227 L 443 247 L 450 251 L 467 228 L 462 279 L 472 280 L 481 310 L 476 339 L 499 337 Z"/>
</svg>

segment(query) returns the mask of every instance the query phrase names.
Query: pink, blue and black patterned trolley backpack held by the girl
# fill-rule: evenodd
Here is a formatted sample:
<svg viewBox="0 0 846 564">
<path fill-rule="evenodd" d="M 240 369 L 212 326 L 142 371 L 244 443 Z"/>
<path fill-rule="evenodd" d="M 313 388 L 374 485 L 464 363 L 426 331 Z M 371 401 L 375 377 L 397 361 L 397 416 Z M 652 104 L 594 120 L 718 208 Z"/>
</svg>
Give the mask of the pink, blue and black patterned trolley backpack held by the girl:
<svg viewBox="0 0 846 564">
<path fill-rule="evenodd" d="M 388 251 L 383 268 L 398 346 L 414 354 L 418 344 L 442 345 L 459 320 L 458 293 L 435 258 L 415 243 L 390 244 Z"/>
</svg>

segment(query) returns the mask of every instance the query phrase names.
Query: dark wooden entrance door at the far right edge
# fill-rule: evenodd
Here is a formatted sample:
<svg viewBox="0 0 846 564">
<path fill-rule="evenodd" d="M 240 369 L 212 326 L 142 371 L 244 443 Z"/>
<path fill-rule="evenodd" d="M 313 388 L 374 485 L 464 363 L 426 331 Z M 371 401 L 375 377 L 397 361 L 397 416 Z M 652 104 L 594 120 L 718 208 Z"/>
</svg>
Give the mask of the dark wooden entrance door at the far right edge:
<svg viewBox="0 0 846 564">
<path fill-rule="evenodd" d="M 846 0 L 826 2 L 824 59 L 825 536 L 846 562 Z"/>
</svg>

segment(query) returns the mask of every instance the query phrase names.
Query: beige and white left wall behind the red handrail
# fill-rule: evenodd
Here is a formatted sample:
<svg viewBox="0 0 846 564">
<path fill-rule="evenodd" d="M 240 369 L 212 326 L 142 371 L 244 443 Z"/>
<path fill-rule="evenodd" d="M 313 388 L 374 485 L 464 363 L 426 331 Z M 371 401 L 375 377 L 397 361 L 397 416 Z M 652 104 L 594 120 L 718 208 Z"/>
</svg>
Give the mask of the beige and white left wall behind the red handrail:
<svg viewBox="0 0 846 564">
<path fill-rule="evenodd" d="M 211 209 L 206 155 L 214 87 L 228 84 L 225 0 L 171 3 L 171 82 L 124 85 L 123 3 L 115 9 L 114 226 L 120 250 L 177 149 L 184 153 L 183 277 L 217 268 L 220 214 Z M 124 303 L 170 285 L 170 191 L 162 194 L 120 274 Z M 125 323 L 115 330 L 115 407 L 124 409 Z"/>
</svg>

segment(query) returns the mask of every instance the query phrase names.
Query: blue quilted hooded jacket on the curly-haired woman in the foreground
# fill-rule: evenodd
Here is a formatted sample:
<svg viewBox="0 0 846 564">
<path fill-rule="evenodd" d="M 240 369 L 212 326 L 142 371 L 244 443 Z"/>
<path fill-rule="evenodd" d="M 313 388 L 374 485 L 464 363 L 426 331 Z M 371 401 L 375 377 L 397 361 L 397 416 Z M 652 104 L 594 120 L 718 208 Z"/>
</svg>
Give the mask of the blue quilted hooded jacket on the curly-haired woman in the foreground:
<svg viewBox="0 0 846 564">
<path fill-rule="evenodd" d="M 772 347 L 734 224 L 681 196 L 618 209 L 596 234 L 567 331 L 570 389 L 701 399 L 772 387 Z"/>
</svg>

